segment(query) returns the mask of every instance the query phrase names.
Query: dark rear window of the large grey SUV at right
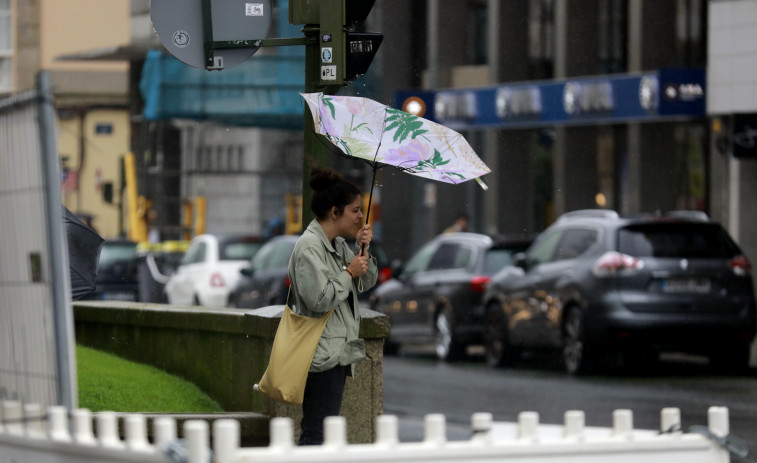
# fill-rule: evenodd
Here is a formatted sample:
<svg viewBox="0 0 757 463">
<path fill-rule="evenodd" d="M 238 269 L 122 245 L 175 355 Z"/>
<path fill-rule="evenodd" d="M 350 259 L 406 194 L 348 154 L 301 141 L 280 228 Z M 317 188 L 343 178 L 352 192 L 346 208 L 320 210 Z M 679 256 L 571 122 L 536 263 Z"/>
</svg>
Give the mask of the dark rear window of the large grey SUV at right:
<svg viewBox="0 0 757 463">
<path fill-rule="evenodd" d="M 729 259 L 738 246 L 718 224 L 633 225 L 618 232 L 618 252 L 635 257 Z"/>
</svg>

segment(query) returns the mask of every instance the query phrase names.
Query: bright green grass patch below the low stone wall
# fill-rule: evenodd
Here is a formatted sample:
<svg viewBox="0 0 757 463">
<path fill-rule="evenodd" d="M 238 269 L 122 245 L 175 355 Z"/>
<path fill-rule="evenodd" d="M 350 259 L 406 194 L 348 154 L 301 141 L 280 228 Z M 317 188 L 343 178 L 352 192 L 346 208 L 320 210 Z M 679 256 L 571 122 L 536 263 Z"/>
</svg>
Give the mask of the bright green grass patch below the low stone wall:
<svg viewBox="0 0 757 463">
<path fill-rule="evenodd" d="M 154 368 L 76 346 L 79 407 L 92 411 L 222 412 L 197 386 Z"/>
</svg>

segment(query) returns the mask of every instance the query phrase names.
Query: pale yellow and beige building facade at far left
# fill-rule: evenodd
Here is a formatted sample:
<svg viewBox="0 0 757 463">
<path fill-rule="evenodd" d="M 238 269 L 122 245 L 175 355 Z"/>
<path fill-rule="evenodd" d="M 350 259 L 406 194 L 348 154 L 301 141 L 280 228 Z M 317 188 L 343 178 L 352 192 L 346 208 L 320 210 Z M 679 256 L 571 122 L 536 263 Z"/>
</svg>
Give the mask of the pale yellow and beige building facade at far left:
<svg viewBox="0 0 757 463">
<path fill-rule="evenodd" d="M 120 159 L 129 149 L 128 67 L 64 61 L 129 38 L 129 1 L 0 1 L 0 95 L 49 72 L 58 115 L 63 203 L 105 237 L 122 232 Z"/>
</svg>

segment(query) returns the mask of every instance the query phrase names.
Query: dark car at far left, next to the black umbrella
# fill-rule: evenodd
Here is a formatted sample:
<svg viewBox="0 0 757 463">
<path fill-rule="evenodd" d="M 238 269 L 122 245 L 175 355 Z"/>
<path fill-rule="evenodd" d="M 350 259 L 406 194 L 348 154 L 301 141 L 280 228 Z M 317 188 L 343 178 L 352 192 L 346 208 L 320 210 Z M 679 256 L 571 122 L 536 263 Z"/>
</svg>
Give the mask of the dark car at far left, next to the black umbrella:
<svg viewBox="0 0 757 463">
<path fill-rule="evenodd" d="M 95 285 L 95 290 L 84 299 L 138 300 L 137 243 L 125 239 L 106 240 L 100 251 Z"/>
</svg>

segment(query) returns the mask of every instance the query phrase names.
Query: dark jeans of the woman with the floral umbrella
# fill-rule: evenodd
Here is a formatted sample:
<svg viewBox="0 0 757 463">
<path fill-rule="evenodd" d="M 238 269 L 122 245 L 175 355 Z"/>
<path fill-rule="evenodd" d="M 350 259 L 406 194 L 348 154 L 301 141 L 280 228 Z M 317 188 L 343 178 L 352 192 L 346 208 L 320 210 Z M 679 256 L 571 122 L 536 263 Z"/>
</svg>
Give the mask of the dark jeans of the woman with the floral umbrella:
<svg viewBox="0 0 757 463">
<path fill-rule="evenodd" d="M 327 416 L 339 416 L 349 368 L 339 365 L 320 373 L 308 373 L 302 401 L 302 434 L 299 445 L 323 443 L 323 420 Z"/>
</svg>

